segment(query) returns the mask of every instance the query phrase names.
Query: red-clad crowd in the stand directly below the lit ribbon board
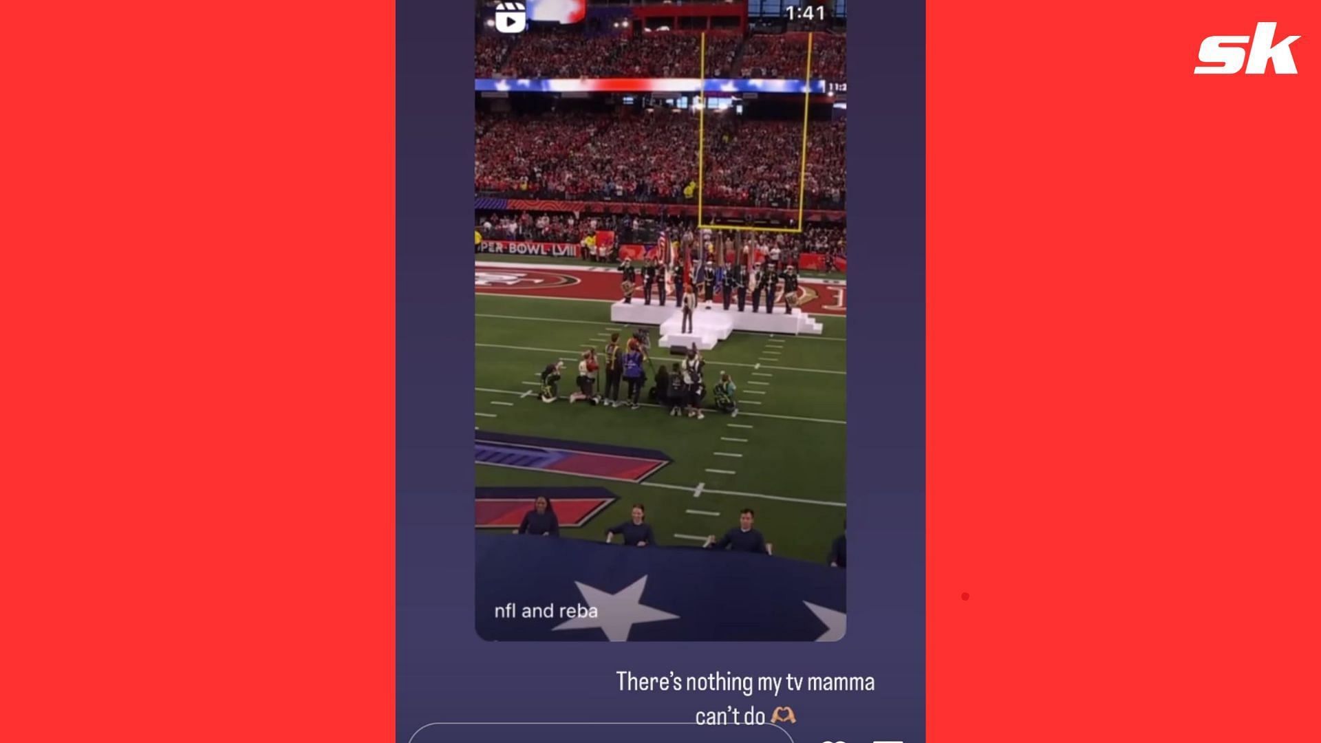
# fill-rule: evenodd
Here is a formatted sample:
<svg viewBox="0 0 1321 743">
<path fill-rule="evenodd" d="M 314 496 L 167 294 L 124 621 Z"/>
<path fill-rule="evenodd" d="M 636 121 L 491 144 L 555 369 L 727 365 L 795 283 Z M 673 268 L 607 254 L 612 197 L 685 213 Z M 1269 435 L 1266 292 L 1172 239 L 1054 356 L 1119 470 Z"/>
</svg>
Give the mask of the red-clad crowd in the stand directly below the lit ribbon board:
<svg viewBox="0 0 1321 743">
<path fill-rule="evenodd" d="M 802 124 L 711 116 L 703 198 L 738 206 L 798 205 Z M 653 110 L 620 116 L 480 114 L 480 193 L 530 198 L 696 201 L 697 118 Z M 808 208 L 843 209 L 844 120 L 807 130 Z"/>
</svg>

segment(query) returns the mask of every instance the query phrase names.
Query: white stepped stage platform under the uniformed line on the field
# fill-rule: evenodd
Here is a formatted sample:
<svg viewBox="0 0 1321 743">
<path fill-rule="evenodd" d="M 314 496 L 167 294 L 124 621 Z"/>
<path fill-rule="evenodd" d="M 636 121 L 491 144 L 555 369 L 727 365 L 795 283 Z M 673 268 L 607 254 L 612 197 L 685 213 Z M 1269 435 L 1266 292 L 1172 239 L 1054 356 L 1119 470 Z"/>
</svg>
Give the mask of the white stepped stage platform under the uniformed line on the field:
<svg viewBox="0 0 1321 743">
<path fill-rule="evenodd" d="M 783 305 L 775 312 L 753 312 L 749 305 L 742 312 L 737 307 L 725 309 L 724 305 L 713 303 L 708 309 L 705 303 L 697 305 L 692 312 L 692 333 L 679 333 L 683 321 L 683 312 L 674 304 L 642 304 L 634 297 L 631 304 L 616 301 L 610 305 L 610 321 L 624 325 L 659 325 L 659 344 L 664 348 L 688 346 L 694 342 L 701 350 L 716 348 L 716 342 L 729 337 L 734 331 L 749 331 L 753 333 L 782 333 L 786 336 L 819 336 L 822 324 L 812 320 L 811 315 L 802 309 L 786 313 Z"/>
</svg>

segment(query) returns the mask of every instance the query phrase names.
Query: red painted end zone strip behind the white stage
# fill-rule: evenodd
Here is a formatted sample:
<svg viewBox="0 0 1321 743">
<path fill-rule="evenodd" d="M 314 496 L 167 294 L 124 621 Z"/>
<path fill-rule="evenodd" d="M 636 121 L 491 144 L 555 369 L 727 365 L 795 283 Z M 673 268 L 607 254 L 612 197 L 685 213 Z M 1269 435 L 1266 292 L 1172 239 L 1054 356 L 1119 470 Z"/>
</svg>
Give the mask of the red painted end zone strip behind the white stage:
<svg viewBox="0 0 1321 743">
<path fill-rule="evenodd" d="M 624 296 L 620 292 L 620 282 L 618 270 L 601 264 L 543 267 L 531 263 L 478 260 L 474 268 L 474 290 L 478 293 L 519 293 L 552 299 L 617 301 Z M 633 290 L 633 296 L 642 297 L 641 280 Z M 799 307 L 810 315 L 845 315 L 848 312 L 845 279 L 802 279 L 798 286 L 798 297 Z M 672 296 L 670 301 L 674 301 Z M 721 301 L 720 292 L 716 292 L 716 301 Z M 748 301 L 752 301 L 750 292 Z"/>
</svg>

